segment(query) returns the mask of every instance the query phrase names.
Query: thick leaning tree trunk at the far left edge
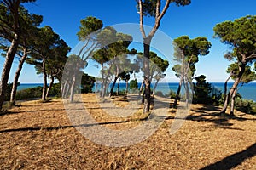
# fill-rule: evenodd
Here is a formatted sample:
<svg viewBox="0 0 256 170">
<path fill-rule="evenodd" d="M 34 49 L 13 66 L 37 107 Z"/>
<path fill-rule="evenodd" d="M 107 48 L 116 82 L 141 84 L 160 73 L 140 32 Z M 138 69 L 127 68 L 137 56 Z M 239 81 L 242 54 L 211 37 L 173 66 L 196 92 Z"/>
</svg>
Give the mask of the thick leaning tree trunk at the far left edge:
<svg viewBox="0 0 256 170">
<path fill-rule="evenodd" d="M 5 99 L 5 92 L 7 88 L 8 79 L 9 79 L 9 72 L 13 64 L 13 61 L 15 59 L 15 54 L 17 52 L 19 42 L 20 42 L 20 35 L 15 33 L 15 37 L 12 40 L 12 43 L 9 47 L 9 50 L 6 54 L 5 62 L 3 65 L 2 78 L 0 82 L 0 111 L 2 110 L 2 107 L 3 107 L 3 101 Z"/>
</svg>

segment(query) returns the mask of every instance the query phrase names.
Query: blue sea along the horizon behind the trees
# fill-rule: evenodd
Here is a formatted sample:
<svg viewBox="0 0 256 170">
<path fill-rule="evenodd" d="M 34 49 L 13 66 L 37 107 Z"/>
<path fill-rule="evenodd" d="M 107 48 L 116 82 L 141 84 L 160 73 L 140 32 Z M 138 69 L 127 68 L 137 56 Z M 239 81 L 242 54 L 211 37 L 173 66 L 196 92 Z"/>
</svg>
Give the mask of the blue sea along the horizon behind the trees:
<svg viewBox="0 0 256 170">
<path fill-rule="evenodd" d="M 212 84 L 212 88 L 217 88 L 221 92 L 224 92 L 224 82 L 210 82 Z M 228 82 L 228 88 L 231 88 L 233 82 Z M 141 83 L 138 82 L 138 87 L 140 87 Z M 18 90 L 26 89 L 26 88 L 35 88 L 38 86 L 43 87 L 43 83 L 20 83 L 18 86 Z M 154 84 L 153 84 L 154 86 Z M 119 91 L 125 90 L 126 84 L 125 82 L 120 83 Z M 163 94 L 169 94 L 170 90 L 176 92 L 178 87 L 178 82 L 160 82 L 156 88 L 156 91 L 161 91 Z M 97 87 L 99 89 L 99 87 Z M 110 90 L 110 88 L 108 88 Z M 93 88 L 93 91 L 96 90 L 96 87 Z M 114 91 L 116 87 L 114 88 Z M 244 99 L 251 99 L 256 102 L 256 82 L 249 82 L 247 84 L 243 84 L 238 88 L 238 93 L 241 94 Z"/>
</svg>

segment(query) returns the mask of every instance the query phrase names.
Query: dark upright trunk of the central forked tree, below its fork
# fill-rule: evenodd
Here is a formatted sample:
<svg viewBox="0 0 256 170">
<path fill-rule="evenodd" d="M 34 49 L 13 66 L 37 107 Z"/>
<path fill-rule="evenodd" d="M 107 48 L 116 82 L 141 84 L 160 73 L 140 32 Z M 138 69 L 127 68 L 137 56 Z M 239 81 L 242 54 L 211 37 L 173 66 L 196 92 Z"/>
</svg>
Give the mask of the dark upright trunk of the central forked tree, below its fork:
<svg viewBox="0 0 256 170">
<path fill-rule="evenodd" d="M 150 43 L 144 39 L 144 82 L 145 82 L 145 90 L 144 90 L 144 105 L 143 105 L 143 113 L 147 113 L 150 110 L 150 81 L 149 81 L 149 51 L 150 51 Z"/>
</svg>

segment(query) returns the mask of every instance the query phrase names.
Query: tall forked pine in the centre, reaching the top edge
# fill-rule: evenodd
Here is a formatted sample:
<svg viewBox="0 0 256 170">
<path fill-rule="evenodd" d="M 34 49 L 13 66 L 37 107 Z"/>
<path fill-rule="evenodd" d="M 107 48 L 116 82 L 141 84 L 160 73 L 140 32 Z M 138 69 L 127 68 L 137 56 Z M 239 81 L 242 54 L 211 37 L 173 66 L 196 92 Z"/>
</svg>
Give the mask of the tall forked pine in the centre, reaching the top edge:
<svg viewBox="0 0 256 170">
<path fill-rule="evenodd" d="M 177 6 L 185 6 L 191 3 L 191 0 L 166 0 L 165 5 L 162 7 L 161 0 L 136 0 L 137 9 L 140 15 L 140 31 L 143 35 L 143 56 L 144 56 L 144 83 L 145 83 L 145 99 L 143 104 L 143 113 L 148 112 L 150 108 L 150 81 L 149 77 L 149 52 L 150 44 L 154 37 L 154 34 L 160 27 L 160 21 L 166 14 L 170 3 L 176 3 Z M 144 16 L 154 18 L 154 26 L 148 35 L 144 29 Z"/>
</svg>

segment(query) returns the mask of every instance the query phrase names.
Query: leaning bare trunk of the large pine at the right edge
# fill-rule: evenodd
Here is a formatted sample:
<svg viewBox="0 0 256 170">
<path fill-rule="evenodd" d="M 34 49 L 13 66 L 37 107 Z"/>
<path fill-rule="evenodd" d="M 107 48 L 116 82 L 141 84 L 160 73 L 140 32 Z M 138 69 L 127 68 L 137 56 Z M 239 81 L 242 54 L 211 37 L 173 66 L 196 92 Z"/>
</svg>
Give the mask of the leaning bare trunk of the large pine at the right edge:
<svg viewBox="0 0 256 170">
<path fill-rule="evenodd" d="M 230 103 L 230 98 L 232 98 L 239 82 L 241 82 L 241 77 L 245 71 L 245 67 L 246 67 L 247 63 L 242 63 L 240 66 L 240 71 L 238 73 L 237 78 L 235 79 L 235 82 L 232 85 L 232 88 L 230 88 L 230 93 L 228 94 L 229 96 L 227 97 L 227 99 L 224 101 L 224 106 L 222 108 L 222 110 L 220 111 L 220 114 L 225 114 L 228 108 L 228 105 Z"/>
</svg>

